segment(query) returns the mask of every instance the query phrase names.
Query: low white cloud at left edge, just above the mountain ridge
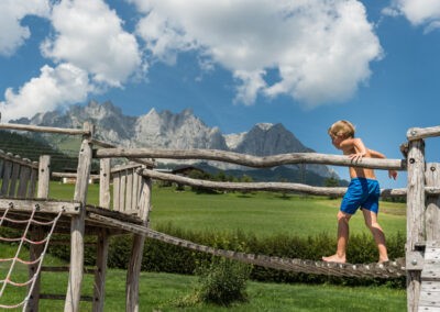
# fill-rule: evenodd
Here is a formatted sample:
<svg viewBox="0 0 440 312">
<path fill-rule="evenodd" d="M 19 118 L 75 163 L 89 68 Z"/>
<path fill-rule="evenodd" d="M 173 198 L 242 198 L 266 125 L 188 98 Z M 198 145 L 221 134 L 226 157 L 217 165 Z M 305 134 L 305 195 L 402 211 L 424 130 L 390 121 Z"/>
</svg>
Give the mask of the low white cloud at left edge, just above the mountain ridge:
<svg viewBox="0 0 440 312">
<path fill-rule="evenodd" d="M 32 78 L 16 93 L 7 89 L 6 100 L 0 102 L 2 119 L 32 118 L 63 104 L 85 101 L 89 88 L 85 70 L 72 64 L 61 64 L 56 68 L 45 65 L 40 77 Z"/>
</svg>

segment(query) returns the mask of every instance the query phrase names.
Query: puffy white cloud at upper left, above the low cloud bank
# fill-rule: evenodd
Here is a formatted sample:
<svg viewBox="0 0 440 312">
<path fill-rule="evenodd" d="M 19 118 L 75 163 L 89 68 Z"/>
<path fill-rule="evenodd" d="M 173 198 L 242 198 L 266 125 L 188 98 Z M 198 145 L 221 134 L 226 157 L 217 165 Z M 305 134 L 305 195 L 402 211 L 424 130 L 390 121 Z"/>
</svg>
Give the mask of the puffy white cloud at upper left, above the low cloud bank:
<svg viewBox="0 0 440 312">
<path fill-rule="evenodd" d="M 43 55 L 82 68 L 95 82 L 121 87 L 141 65 L 134 35 L 101 0 L 63 0 L 52 24 L 55 35 L 42 45 Z"/>
</svg>

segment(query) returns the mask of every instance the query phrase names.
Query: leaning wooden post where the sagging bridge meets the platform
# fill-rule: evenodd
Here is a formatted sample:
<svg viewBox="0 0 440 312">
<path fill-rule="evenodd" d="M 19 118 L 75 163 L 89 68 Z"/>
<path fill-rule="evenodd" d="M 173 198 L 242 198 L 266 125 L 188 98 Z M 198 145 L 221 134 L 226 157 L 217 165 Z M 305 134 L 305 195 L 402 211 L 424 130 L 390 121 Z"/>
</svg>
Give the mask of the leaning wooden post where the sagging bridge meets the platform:
<svg viewBox="0 0 440 312">
<path fill-rule="evenodd" d="M 143 224 L 145 226 L 147 226 L 148 223 L 151 191 L 152 191 L 151 179 L 143 178 L 141 197 L 139 199 L 139 210 L 140 210 L 140 216 L 143 220 Z M 131 249 L 129 268 L 127 270 L 127 289 L 125 289 L 125 299 L 127 299 L 125 311 L 130 312 L 139 311 L 139 278 L 141 274 L 144 243 L 145 243 L 145 235 L 139 235 L 139 234 L 133 235 L 133 246 Z"/>
</svg>

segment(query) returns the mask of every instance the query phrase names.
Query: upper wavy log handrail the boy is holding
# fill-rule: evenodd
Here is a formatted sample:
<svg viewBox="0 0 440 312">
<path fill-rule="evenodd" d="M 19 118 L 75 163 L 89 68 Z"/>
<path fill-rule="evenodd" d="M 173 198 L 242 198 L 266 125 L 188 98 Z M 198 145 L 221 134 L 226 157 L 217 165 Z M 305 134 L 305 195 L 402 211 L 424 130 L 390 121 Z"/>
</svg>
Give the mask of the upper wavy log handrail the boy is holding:
<svg viewBox="0 0 440 312">
<path fill-rule="evenodd" d="M 108 157 L 147 157 L 167 159 L 205 159 L 231 163 L 255 168 L 274 167 L 293 164 L 322 164 L 373 169 L 405 170 L 405 161 L 400 159 L 363 158 L 352 161 L 346 156 L 318 153 L 292 153 L 257 157 L 217 149 L 151 149 L 151 148 L 102 148 L 95 152 L 97 158 Z"/>
</svg>

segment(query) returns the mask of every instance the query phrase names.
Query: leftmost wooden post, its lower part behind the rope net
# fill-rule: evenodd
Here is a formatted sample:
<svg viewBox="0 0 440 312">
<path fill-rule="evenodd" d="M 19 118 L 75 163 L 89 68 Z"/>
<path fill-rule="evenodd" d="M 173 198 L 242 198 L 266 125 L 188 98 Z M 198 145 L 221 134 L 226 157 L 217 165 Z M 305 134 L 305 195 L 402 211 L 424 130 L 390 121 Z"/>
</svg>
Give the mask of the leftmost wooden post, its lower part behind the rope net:
<svg viewBox="0 0 440 312">
<path fill-rule="evenodd" d="M 48 198 L 48 182 L 51 177 L 51 156 L 42 155 L 40 156 L 38 164 L 38 189 L 37 189 L 37 198 L 47 199 Z M 32 241 L 42 241 L 44 238 L 44 232 L 41 226 L 33 226 L 31 231 L 31 239 Z M 43 253 L 43 245 L 34 245 L 30 246 L 30 260 L 33 261 L 37 259 Z M 30 279 L 34 276 L 38 264 L 29 266 L 29 277 Z M 38 302 L 40 302 L 40 281 L 41 276 L 36 277 L 34 289 L 30 296 L 30 300 L 26 305 L 26 311 L 37 312 L 38 311 Z"/>
</svg>

